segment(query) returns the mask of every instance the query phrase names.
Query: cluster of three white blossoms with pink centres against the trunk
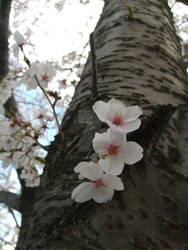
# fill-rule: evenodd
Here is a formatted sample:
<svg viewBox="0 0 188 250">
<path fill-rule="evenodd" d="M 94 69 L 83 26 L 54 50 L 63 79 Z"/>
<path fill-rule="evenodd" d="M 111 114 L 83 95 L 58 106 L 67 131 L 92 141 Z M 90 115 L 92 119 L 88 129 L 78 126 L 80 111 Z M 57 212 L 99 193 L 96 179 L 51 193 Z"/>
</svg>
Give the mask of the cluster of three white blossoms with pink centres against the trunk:
<svg viewBox="0 0 188 250">
<path fill-rule="evenodd" d="M 93 199 L 97 203 L 110 201 L 114 190 L 124 190 L 118 177 L 125 164 L 132 165 L 143 157 L 143 148 L 134 141 L 127 141 L 127 134 L 140 127 L 142 110 L 139 106 L 126 107 L 111 99 L 93 105 L 97 117 L 109 126 L 105 133 L 96 133 L 93 148 L 99 156 L 97 163 L 80 162 L 75 168 L 79 179 L 89 181 L 79 184 L 72 192 L 72 199 L 82 203 Z"/>
</svg>

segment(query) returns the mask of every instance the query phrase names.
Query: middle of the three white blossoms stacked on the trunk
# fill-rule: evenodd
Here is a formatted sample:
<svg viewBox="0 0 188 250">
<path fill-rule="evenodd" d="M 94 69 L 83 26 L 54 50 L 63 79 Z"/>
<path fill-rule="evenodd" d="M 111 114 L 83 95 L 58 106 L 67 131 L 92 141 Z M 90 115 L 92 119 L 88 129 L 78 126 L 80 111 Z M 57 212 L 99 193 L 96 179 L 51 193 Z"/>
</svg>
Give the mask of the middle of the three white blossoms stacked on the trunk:
<svg viewBox="0 0 188 250">
<path fill-rule="evenodd" d="M 96 133 L 93 148 L 102 158 L 99 164 L 112 175 L 120 175 L 124 164 L 132 165 L 143 157 L 143 148 L 136 142 L 127 142 L 126 136 L 108 129 L 106 133 Z"/>
</svg>

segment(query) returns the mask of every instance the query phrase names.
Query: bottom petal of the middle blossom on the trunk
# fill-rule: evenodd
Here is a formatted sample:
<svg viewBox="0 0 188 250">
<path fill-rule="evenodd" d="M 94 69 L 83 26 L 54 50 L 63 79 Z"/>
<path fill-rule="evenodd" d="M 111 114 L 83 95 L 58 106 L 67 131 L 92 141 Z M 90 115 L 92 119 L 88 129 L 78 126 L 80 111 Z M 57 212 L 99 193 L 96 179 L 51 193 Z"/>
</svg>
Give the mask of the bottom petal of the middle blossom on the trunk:
<svg viewBox="0 0 188 250">
<path fill-rule="evenodd" d="M 119 160 L 118 158 L 116 160 L 110 158 L 100 159 L 99 164 L 102 166 L 104 172 L 112 175 L 120 175 L 124 168 L 122 159 Z"/>
</svg>

